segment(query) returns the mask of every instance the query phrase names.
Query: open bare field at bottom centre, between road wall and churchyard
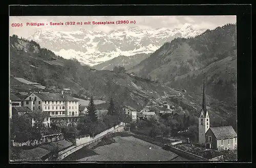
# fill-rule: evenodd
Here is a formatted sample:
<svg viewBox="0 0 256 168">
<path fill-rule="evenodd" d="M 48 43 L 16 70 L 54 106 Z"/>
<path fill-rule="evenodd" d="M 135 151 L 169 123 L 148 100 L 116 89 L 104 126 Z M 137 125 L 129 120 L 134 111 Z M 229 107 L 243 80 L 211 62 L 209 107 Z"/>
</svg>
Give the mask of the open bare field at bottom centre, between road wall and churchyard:
<svg viewBox="0 0 256 168">
<path fill-rule="evenodd" d="M 116 143 L 94 149 L 98 155 L 84 157 L 79 161 L 168 161 L 178 156 L 133 136 L 117 136 L 114 139 Z"/>
</svg>

